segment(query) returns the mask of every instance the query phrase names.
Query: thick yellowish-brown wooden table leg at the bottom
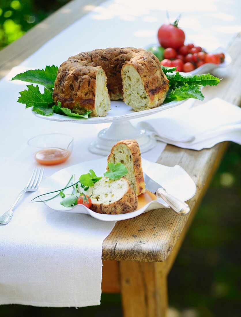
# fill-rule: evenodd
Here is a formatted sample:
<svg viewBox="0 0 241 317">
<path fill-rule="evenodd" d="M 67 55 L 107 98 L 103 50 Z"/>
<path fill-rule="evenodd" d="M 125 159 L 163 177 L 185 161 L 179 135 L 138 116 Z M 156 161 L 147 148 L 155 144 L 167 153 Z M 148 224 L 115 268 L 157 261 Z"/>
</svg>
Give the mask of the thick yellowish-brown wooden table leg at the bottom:
<svg viewBox="0 0 241 317">
<path fill-rule="evenodd" d="M 124 317 L 166 317 L 167 275 L 163 262 L 119 262 Z"/>
</svg>

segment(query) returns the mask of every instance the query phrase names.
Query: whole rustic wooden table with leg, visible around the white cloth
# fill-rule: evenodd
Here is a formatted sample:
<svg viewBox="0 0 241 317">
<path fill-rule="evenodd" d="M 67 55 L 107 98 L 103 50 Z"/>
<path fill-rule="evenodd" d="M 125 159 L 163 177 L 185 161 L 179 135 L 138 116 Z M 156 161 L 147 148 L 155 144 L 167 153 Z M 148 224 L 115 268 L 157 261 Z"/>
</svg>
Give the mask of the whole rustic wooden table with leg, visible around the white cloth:
<svg viewBox="0 0 241 317">
<path fill-rule="evenodd" d="M 92 1 L 91 5 L 101 2 Z M 68 3 L 0 51 L 0 78 L 86 14 L 90 8 L 88 5 L 88 0 Z M 231 77 L 225 78 L 216 87 L 205 87 L 205 100 L 215 96 L 240 104 L 240 47 L 241 36 L 238 35 L 229 48 Z M 188 201 L 190 213 L 178 216 L 169 209 L 149 211 L 139 217 L 117 222 L 104 240 L 102 291 L 121 293 L 125 317 L 166 316 L 167 275 L 227 146 L 228 142 L 223 142 L 202 151 L 166 146 L 157 162 L 182 166 L 196 183 L 197 192 Z"/>
</svg>

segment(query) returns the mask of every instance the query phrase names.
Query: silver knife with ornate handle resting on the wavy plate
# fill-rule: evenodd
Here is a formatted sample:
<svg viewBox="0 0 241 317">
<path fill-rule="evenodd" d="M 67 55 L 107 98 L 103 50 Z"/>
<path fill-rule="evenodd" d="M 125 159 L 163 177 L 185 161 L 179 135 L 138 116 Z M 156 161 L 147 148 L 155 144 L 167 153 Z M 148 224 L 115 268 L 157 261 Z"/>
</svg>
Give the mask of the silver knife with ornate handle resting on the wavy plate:
<svg viewBox="0 0 241 317">
<path fill-rule="evenodd" d="M 156 197 L 162 198 L 178 215 L 186 215 L 190 208 L 188 204 L 169 194 L 164 187 L 155 182 L 147 174 L 144 174 L 146 189 L 152 192 Z"/>
</svg>

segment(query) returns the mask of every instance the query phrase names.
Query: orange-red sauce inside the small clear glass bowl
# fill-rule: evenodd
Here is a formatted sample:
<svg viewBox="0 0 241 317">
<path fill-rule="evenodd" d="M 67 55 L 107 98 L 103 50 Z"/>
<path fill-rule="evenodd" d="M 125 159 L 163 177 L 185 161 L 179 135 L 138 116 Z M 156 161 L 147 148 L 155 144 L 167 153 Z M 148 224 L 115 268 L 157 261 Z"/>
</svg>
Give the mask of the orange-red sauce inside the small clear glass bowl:
<svg viewBox="0 0 241 317">
<path fill-rule="evenodd" d="M 56 165 L 65 162 L 70 152 L 63 149 L 45 149 L 34 154 L 34 158 L 42 165 Z"/>
</svg>

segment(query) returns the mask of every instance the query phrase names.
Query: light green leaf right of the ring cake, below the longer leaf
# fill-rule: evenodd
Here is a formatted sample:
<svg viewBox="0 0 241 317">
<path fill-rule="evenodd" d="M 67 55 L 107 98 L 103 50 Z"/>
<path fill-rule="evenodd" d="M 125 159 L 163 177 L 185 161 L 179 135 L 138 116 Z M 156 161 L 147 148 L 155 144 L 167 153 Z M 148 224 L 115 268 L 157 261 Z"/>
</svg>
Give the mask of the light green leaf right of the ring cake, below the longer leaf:
<svg viewBox="0 0 241 317">
<path fill-rule="evenodd" d="M 199 100 L 204 100 L 204 95 L 200 91 L 200 87 L 198 85 L 188 84 L 177 87 L 173 90 L 169 90 L 166 96 L 166 102 L 170 102 L 173 100 L 184 100 L 186 98 L 194 98 Z"/>
</svg>

